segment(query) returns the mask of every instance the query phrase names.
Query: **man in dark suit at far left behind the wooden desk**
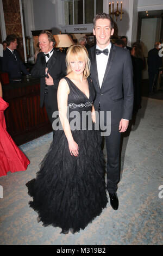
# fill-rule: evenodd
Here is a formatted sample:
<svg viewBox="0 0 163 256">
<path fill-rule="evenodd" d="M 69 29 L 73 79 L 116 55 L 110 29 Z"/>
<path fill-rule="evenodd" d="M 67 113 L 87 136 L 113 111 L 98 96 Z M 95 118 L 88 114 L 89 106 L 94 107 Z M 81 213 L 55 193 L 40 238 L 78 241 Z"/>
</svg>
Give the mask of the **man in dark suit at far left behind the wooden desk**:
<svg viewBox="0 0 163 256">
<path fill-rule="evenodd" d="M 17 47 L 17 38 L 16 35 L 11 34 L 6 38 L 7 48 L 3 51 L 2 59 L 2 70 L 7 72 L 9 79 L 20 79 L 22 77 L 21 72 L 25 75 L 29 75 L 26 66 L 22 63 L 18 52 L 16 51 Z"/>
</svg>

